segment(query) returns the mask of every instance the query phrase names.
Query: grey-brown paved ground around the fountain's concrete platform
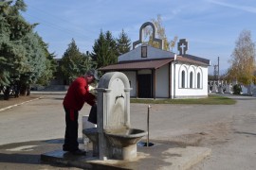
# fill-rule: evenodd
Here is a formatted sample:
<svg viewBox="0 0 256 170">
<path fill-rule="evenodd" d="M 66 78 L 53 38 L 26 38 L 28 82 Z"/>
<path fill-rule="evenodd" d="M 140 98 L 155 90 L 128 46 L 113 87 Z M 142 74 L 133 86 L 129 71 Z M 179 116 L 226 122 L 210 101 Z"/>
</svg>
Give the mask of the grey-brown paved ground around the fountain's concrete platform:
<svg viewBox="0 0 256 170">
<path fill-rule="evenodd" d="M 62 93 L 47 94 L 0 111 L 1 169 L 68 169 L 39 159 L 41 153 L 52 147 L 61 148 L 63 143 L 63 97 Z M 256 169 L 256 98 L 230 97 L 235 98 L 237 104 L 153 105 L 150 142 L 211 148 L 210 158 L 192 167 L 193 170 Z M 147 107 L 131 104 L 133 127 L 146 129 Z M 89 107 L 84 106 L 80 115 L 88 112 Z"/>
</svg>

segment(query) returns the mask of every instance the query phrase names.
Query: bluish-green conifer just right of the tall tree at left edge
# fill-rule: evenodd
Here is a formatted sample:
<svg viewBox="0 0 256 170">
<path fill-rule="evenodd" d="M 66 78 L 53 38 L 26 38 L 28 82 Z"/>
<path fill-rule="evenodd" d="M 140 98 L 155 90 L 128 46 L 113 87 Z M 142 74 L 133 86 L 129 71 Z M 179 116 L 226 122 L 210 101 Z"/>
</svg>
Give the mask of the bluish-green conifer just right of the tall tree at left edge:
<svg viewBox="0 0 256 170">
<path fill-rule="evenodd" d="M 56 70 L 55 56 L 47 50 L 48 45 L 37 33 L 27 33 L 23 39 L 26 48 L 25 70 L 20 73 L 21 94 L 29 93 L 30 84 L 48 85 Z"/>
</svg>

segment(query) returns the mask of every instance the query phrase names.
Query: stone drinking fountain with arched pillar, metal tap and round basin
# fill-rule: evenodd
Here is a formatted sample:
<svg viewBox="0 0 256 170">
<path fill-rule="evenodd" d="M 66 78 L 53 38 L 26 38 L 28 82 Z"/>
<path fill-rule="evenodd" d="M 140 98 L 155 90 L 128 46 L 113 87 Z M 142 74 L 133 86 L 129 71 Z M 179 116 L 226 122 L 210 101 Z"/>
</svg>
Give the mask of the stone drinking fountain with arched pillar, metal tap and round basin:
<svg viewBox="0 0 256 170">
<path fill-rule="evenodd" d="M 96 89 L 99 159 L 131 160 L 137 157 L 137 142 L 146 131 L 131 128 L 129 79 L 123 73 L 104 74 Z M 87 133 L 88 134 L 88 133 Z M 86 135 L 86 132 L 85 132 Z"/>
</svg>

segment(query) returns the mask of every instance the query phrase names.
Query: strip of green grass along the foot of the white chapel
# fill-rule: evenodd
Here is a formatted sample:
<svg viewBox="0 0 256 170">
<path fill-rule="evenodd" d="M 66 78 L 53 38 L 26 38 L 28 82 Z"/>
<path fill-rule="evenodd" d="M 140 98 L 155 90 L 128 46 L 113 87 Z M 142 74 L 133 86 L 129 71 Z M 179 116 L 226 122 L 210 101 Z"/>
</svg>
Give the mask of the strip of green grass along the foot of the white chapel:
<svg viewBox="0 0 256 170">
<path fill-rule="evenodd" d="M 131 103 L 145 104 L 193 104 L 193 105 L 233 105 L 234 99 L 221 95 L 209 95 L 207 98 L 184 99 L 136 99 L 131 98 Z"/>
</svg>

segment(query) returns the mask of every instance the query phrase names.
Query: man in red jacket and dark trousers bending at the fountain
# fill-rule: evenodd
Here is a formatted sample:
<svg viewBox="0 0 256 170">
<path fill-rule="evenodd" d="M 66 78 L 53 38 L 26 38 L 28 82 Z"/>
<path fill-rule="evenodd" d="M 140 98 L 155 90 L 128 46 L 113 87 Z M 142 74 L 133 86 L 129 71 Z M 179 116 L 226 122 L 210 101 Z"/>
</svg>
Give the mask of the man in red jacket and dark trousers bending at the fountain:
<svg viewBox="0 0 256 170">
<path fill-rule="evenodd" d="M 96 70 L 88 71 L 84 76 L 76 78 L 64 96 L 65 134 L 63 150 L 75 155 L 83 155 L 85 151 L 79 149 L 78 143 L 78 114 L 86 102 L 95 105 L 96 96 L 89 93 L 88 85 L 99 79 Z"/>
</svg>

